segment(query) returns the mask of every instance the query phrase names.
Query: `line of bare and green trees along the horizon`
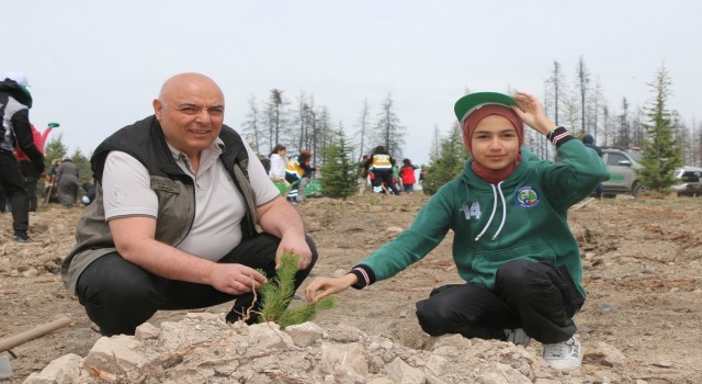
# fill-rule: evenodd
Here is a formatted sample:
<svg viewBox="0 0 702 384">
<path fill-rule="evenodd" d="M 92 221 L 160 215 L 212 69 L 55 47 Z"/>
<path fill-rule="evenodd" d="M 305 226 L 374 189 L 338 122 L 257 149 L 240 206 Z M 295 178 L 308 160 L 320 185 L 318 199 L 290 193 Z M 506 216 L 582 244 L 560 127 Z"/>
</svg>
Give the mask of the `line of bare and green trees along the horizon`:
<svg viewBox="0 0 702 384">
<path fill-rule="evenodd" d="M 575 74 L 567 80 L 562 65 L 553 63 L 550 75 L 544 80 L 542 100 L 547 114 L 557 125 L 568 127 L 578 137 L 591 134 L 601 146 L 644 150 L 648 160 L 648 187 L 652 190 L 666 192 L 675 180 L 676 168 L 702 166 L 702 123 L 693 121 L 686 124 L 683 116 L 668 108 L 668 100 L 673 92 L 672 78 L 665 65 L 657 68 L 647 86 L 650 97 L 645 105 L 631 109 L 626 97 L 621 100 L 619 109 L 608 105 L 604 100 L 603 84 L 588 69 L 582 57 L 579 58 Z M 507 89 L 506 93 L 514 90 Z M 466 93 L 471 90 L 466 89 Z M 371 105 L 365 100 L 359 110 L 356 122 L 347 128 L 343 122 L 335 124 L 330 121 L 327 106 L 316 103 L 313 94 L 301 92 L 294 102 L 280 89 L 272 89 L 269 99 L 258 102 L 249 99 L 247 120 L 237 128 L 261 156 L 268 157 L 275 144 L 288 148 L 288 156 L 299 150 L 313 151 L 313 166 L 318 169 L 327 167 L 327 184 L 330 179 L 339 185 L 354 183 L 359 161 L 364 154 L 372 153 L 378 145 L 385 146 L 396 160 L 410 158 L 404 154 L 406 128 L 396 111 L 393 95 L 388 93 L 380 111 L 372 114 Z M 525 129 L 524 146 L 543 159 L 555 159 L 555 151 L 547 140 L 532 129 Z M 433 193 L 443 183 L 458 174 L 463 163 L 469 157 L 466 153 L 457 122 L 450 127 L 434 127 L 429 144 L 429 163 L 427 176 L 432 185 L 427 193 Z M 92 177 L 90 154 L 80 148 L 69 153 L 63 143 L 59 132 L 46 144 L 47 166 L 52 160 L 69 154 L 80 169 L 81 184 Z M 320 172 L 324 181 L 324 171 Z M 331 191 L 331 196 L 347 196 L 353 188 L 341 188 Z"/>
</svg>

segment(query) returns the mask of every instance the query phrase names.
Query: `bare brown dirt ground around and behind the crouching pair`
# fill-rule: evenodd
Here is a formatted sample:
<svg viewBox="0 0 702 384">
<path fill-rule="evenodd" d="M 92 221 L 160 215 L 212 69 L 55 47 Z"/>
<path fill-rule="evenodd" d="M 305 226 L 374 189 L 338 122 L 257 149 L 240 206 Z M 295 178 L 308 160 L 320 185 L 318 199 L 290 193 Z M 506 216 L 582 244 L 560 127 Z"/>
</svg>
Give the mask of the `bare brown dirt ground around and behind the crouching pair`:
<svg viewBox="0 0 702 384">
<path fill-rule="evenodd" d="M 421 192 L 366 194 L 298 205 L 319 249 L 313 274 L 343 273 L 407 228 L 427 200 Z M 0 214 L 0 340 L 60 315 L 72 319 L 66 328 L 0 352 L 13 373 L 0 383 L 21 383 L 67 353 L 84 357 L 100 338 L 59 276 L 60 259 L 73 245 L 82 210 L 42 206 L 31 215 L 34 244 L 13 242 L 11 216 Z M 702 383 L 701 217 L 699 197 L 619 196 L 571 210 L 569 222 L 580 244 L 589 293 L 576 316 L 578 335 L 586 351 L 588 345 L 603 341 L 626 357 L 622 365 L 603 366 L 586 354 L 584 371 L 611 372 L 619 377 L 613 382 Z M 428 336 L 417 324 L 415 302 L 434 286 L 460 281 L 451 260 L 452 236 L 397 276 L 338 295 L 337 307 L 319 314 L 315 323 L 349 324 L 421 349 Z M 228 309 L 222 305 L 204 310 Z M 183 316 L 161 312 L 150 321 L 159 325 Z"/>
</svg>

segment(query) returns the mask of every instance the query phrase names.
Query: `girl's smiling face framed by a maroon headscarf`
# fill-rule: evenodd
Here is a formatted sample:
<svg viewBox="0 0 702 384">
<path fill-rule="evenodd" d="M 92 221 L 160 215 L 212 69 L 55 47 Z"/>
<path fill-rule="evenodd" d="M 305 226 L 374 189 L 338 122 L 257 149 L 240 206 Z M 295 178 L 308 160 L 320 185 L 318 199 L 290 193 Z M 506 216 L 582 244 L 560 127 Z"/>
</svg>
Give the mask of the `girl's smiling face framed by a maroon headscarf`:
<svg viewBox="0 0 702 384">
<path fill-rule="evenodd" d="M 499 170 L 509 167 L 517 159 L 519 136 L 509 120 L 489 115 L 475 127 L 471 146 L 475 161 L 488 169 Z"/>
</svg>

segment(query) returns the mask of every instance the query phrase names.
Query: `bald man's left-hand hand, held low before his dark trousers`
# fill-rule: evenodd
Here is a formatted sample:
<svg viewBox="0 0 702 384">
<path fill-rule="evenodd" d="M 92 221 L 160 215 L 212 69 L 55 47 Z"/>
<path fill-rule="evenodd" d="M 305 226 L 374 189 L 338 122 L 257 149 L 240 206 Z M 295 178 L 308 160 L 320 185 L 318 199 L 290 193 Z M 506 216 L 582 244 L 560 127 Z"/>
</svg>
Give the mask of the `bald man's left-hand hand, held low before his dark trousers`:
<svg viewBox="0 0 702 384">
<path fill-rule="evenodd" d="M 230 295 L 259 290 L 267 282 L 264 275 L 242 264 L 213 263 L 210 270 L 210 285 Z"/>
</svg>

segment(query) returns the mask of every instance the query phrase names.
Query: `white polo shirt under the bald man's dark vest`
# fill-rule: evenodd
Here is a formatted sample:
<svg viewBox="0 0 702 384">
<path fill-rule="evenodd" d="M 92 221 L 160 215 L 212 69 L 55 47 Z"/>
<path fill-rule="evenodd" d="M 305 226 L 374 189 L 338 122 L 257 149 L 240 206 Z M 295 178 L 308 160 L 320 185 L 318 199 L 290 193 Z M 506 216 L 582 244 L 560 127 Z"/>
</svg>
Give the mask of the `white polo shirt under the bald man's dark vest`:
<svg viewBox="0 0 702 384">
<path fill-rule="evenodd" d="M 222 147 L 220 147 L 222 146 Z M 188 157 L 169 145 L 178 166 L 194 180 L 195 219 L 188 236 L 176 247 L 188 253 L 219 260 L 241 241 L 241 219 L 246 202 L 234 180 L 218 160 L 224 143 L 217 138 L 204 149 L 200 169 L 192 171 Z M 280 196 L 261 161 L 245 143 L 249 156 L 249 180 L 261 206 Z M 107 155 L 102 177 L 105 218 L 158 215 L 158 201 L 150 188 L 149 173 L 137 159 L 113 150 Z"/>
</svg>

